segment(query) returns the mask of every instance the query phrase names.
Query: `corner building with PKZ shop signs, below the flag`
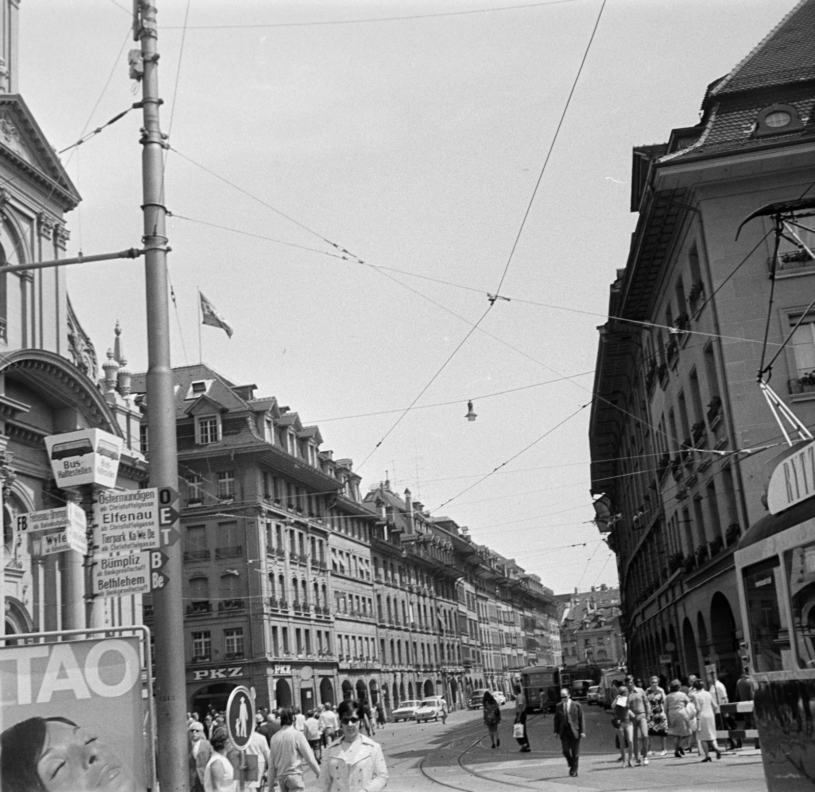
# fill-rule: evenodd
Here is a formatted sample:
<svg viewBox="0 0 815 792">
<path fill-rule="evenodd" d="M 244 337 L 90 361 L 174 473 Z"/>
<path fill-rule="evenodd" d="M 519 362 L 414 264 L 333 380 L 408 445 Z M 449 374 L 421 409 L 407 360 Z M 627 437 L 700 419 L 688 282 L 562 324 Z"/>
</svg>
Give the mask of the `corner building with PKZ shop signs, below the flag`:
<svg viewBox="0 0 815 792">
<path fill-rule="evenodd" d="M 235 684 L 259 706 L 336 700 L 329 536 L 354 491 L 347 470 L 254 385 L 205 365 L 174 381 L 189 706 L 221 708 Z"/>
</svg>

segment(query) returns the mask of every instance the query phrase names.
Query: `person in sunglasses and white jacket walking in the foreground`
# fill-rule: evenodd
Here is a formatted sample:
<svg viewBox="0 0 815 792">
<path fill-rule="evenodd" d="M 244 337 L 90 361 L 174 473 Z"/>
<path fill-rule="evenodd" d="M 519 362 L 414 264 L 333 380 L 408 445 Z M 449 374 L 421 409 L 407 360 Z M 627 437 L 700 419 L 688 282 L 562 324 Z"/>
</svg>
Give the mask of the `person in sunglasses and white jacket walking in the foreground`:
<svg viewBox="0 0 815 792">
<path fill-rule="evenodd" d="M 341 740 L 324 753 L 317 789 L 320 792 L 378 792 L 388 783 L 388 768 L 378 742 L 359 731 L 359 702 L 337 707 Z"/>
</svg>

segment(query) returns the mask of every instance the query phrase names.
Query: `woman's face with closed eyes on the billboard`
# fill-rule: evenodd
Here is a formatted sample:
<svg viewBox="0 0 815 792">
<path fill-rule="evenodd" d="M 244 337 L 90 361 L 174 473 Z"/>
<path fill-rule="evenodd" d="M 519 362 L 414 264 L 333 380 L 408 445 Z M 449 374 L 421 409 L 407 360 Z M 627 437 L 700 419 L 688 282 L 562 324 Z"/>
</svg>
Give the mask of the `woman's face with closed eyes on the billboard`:
<svg viewBox="0 0 815 792">
<path fill-rule="evenodd" d="M 133 792 L 133 779 L 95 729 L 51 721 L 37 772 L 47 792 Z"/>
</svg>

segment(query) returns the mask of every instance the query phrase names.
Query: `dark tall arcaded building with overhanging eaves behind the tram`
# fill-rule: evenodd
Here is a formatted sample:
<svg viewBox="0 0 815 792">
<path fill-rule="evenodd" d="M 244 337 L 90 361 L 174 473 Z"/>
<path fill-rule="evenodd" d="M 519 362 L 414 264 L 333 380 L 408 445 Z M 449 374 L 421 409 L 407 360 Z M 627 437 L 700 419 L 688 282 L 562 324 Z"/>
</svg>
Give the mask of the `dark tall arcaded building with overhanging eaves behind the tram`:
<svg viewBox="0 0 815 792">
<path fill-rule="evenodd" d="M 771 218 L 736 239 L 756 209 L 812 195 L 815 50 L 802 31 L 813 25 L 803 0 L 707 87 L 697 125 L 634 149 L 639 218 L 601 328 L 590 442 L 639 675 L 716 663 L 725 684 L 738 677 L 733 552 L 765 513 L 764 468 L 783 442 L 756 385 L 762 359 L 779 352 L 771 385 L 815 423 L 815 315 L 804 315 L 815 262 L 800 244 L 812 249 L 813 235 L 778 239 L 774 283 Z"/>
</svg>

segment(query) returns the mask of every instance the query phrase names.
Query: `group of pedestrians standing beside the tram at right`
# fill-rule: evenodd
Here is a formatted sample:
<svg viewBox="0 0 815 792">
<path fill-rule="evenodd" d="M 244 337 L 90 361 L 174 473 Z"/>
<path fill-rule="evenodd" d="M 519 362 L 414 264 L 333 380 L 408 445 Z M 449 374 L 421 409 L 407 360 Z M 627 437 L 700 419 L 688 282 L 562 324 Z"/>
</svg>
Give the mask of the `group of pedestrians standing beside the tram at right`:
<svg viewBox="0 0 815 792">
<path fill-rule="evenodd" d="M 703 762 L 712 755 L 721 758 L 716 731 L 734 728 L 733 719 L 721 711 L 729 703 L 725 684 L 712 672 L 708 688 L 694 674 L 687 680 L 672 680 L 667 693 L 658 676 L 650 677 L 643 688 L 642 680 L 628 675 L 624 682 L 615 682 L 617 696 L 613 702 L 611 724 L 617 730 L 618 761 L 623 768 L 648 764 L 649 756 L 664 756 L 670 739 L 673 755 L 681 759 L 694 750 Z M 756 689 L 749 673 L 744 671 L 736 684 L 738 699 L 751 701 Z M 748 714 L 749 715 L 749 714 Z M 751 728 L 748 718 L 747 728 Z M 727 739 L 729 748 L 741 747 L 740 741 Z"/>
</svg>

